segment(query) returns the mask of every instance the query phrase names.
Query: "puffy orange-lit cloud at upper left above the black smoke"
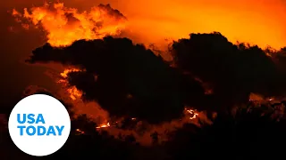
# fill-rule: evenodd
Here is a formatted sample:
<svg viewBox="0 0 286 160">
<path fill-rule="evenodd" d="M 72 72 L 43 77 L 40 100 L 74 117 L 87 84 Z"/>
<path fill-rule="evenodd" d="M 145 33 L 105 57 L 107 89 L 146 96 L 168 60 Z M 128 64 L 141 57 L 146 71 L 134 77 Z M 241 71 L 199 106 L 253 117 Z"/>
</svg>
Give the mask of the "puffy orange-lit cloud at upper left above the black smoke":
<svg viewBox="0 0 286 160">
<path fill-rule="evenodd" d="M 56 3 L 25 8 L 23 13 L 13 10 L 12 14 L 17 20 L 28 20 L 34 27 L 43 28 L 47 33 L 47 43 L 52 46 L 67 46 L 80 39 L 119 35 L 125 27 L 125 18 L 111 14 L 109 9 L 96 6 L 90 11 L 79 12 L 76 8 Z M 22 27 L 29 29 L 29 23 L 22 22 Z"/>
</svg>

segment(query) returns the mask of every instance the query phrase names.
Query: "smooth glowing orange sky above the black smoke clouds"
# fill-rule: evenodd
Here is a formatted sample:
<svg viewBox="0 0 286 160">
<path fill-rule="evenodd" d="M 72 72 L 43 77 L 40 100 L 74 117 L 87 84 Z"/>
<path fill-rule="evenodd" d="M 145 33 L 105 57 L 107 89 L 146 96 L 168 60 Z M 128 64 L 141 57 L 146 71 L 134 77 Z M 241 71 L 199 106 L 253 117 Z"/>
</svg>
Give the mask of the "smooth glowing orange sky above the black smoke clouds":
<svg viewBox="0 0 286 160">
<path fill-rule="evenodd" d="M 32 1 L 37 3 L 32 3 Z M 65 6 L 89 10 L 111 4 L 129 20 L 139 43 L 188 37 L 190 32 L 219 31 L 232 42 L 280 48 L 286 44 L 286 2 L 283 0 L 63 0 Z M 40 1 L 12 0 L 6 4 L 30 7 Z M 42 2 L 41 2 L 42 3 Z"/>
</svg>

